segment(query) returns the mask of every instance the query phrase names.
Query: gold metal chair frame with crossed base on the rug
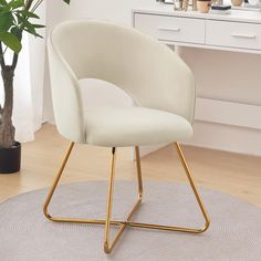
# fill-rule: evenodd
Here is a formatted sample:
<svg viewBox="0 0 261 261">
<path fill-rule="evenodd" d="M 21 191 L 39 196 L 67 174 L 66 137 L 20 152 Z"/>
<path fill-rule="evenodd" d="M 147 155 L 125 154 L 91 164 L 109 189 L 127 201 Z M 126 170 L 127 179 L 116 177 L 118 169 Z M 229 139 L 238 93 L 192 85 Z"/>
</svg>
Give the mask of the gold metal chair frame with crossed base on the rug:
<svg viewBox="0 0 261 261">
<path fill-rule="evenodd" d="M 138 210 L 142 200 L 143 200 L 143 179 L 142 179 L 142 167 L 140 167 L 140 157 L 139 157 L 139 147 L 135 147 L 136 153 L 136 166 L 137 166 L 137 184 L 138 184 L 138 194 L 137 194 L 137 201 L 134 205 L 132 211 L 128 213 L 126 220 L 112 220 L 112 207 L 113 207 L 113 192 L 114 192 L 114 178 L 115 178 L 115 166 L 116 166 L 116 148 L 112 148 L 112 164 L 111 164 L 111 174 L 108 179 L 108 196 L 107 196 L 107 211 L 106 211 L 106 219 L 71 219 L 71 218 L 61 218 L 61 217 L 52 217 L 48 210 L 48 207 L 52 200 L 53 194 L 58 187 L 58 184 L 62 177 L 63 170 L 66 166 L 67 159 L 72 153 L 72 149 L 74 147 L 74 143 L 70 143 L 69 148 L 64 155 L 64 158 L 61 163 L 60 169 L 58 171 L 58 176 L 54 179 L 54 182 L 50 189 L 50 192 L 46 197 L 46 200 L 43 206 L 43 212 L 45 217 L 55 222 L 72 222 L 72 223 L 92 223 L 92 225 L 104 225 L 105 226 L 105 233 L 104 233 L 104 252 L 111 253 L 116 243 L 118 242 L 121 236 L 123 234 L 124 230 L 127 227 L 136 227 L 136 228 L 144 228 L 144 229 L 158 229 L 158 230 L 168 230 L 168 231 L 179 231 L 179 232 L 187 232 L 187 233 L 202 233 L 206 231 L 210 226 L 210 219 L 208 216 L 208 212 L 203 206 L 203 202 L 199 196 L 198 189 L 195 185 L 194 178 L 190 174 L 190 170 L 188 168 L 188 165 L 186 163 L 185 156 L 182 154 L 181 147 L 178 143 L 175 143 L 176 149 L 179 156 L 179 159 L 182 164 L 182 167 L 185 169 L 185 173 L 187 175 L 187 178 L 189 180 L 189 184 L 192 188 L 192 191 L 195 194 L 195 197 L 197 199 L 198 206 L 201 210 L 201 213 L 205 218 L 205 225 L 202 228 L 184 228 L 184 227 L 169 227 L 169 226 L 161 226 L 161 225 L 154 225 L 154 223 L 140 223 L 140 222 L 133 222 L 132 218 L 134 217 L 134 213 Z M 119 227 L 117 234 L 111 242 L 111 226 L 117 226 Z"/>
</svg>

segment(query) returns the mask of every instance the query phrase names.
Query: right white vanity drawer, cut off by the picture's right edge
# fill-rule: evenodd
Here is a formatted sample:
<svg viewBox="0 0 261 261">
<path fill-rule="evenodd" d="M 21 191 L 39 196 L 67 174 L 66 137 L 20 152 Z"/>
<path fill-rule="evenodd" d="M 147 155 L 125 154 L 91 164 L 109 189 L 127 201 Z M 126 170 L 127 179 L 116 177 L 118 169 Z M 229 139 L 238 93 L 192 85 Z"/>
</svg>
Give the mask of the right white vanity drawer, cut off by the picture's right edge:
<svg viewBox="0 0 261 261">
<path fill-rule="evenodd" d="M 207 21 L 206 43 L 219 46 L 261 50 L 261 24 Z"/>
</svg>

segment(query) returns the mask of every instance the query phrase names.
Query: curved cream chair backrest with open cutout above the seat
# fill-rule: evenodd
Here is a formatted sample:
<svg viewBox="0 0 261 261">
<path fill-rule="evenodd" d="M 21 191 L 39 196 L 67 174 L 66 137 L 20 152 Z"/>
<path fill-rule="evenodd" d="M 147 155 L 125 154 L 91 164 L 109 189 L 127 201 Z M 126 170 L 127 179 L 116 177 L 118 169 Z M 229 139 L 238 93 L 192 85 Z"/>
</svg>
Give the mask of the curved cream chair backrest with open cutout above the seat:
<svg viewBox="0 0 261 261">
<path fill-rule="evenodd" d="M 135 29 L 90 20 L 61 23 L 50 33 L 49 60 L 55 121 L 71 140 L 85 140 L 80 79 L 107 81 L 140 106 L 194 121 L 190 69 L 168 46 Z"/>
</svg>

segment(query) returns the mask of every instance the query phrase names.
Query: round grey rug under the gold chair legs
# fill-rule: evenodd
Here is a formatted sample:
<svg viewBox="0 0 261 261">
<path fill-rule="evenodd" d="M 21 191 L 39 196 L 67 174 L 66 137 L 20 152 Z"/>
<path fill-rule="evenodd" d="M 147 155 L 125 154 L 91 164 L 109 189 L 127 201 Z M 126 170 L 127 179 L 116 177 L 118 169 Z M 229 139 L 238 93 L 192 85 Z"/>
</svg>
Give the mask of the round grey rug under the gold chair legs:
<svg viewBox="0 0 261 261">
<path fill-rule="evenodd" d="M 145 182 L 144 203 L 134 220 L 200 227 L 203 222 L 190 188 Z M 133 206 L 134 182 L 115 186 L 114 218 L 124 219 Z M 200 189 L 211 218 L 202 234 L 128 228 L 111 255 L 103 252 L 102 226 L 54 223 L 42 213 L 46 189 L 0 205 L 1 261 L 260 261 L 261 209 L 231 196 Z M 51 205 L 55 216 L 105 218 L 107 184 L 61 186 Z M 116 231 L 116 230 L 115 230 Z"/>
</svg>

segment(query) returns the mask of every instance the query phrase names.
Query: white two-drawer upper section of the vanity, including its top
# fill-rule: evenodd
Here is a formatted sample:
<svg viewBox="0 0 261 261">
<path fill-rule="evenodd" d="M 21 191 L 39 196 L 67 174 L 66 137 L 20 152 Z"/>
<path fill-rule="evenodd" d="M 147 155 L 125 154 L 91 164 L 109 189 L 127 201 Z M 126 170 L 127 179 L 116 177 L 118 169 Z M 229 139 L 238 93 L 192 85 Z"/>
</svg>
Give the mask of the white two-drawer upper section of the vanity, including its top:
<svg viewBox="0 0 261 261">
<path fill-rule="evenodd" d="M 218 15 L 173 11 L 166 15 L 134 10 L 133 14 L 136 29 L 166 43 L 261 53 L 261 12 Z"/>
</svg>

